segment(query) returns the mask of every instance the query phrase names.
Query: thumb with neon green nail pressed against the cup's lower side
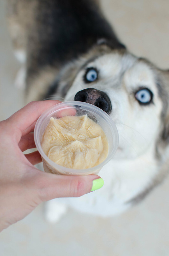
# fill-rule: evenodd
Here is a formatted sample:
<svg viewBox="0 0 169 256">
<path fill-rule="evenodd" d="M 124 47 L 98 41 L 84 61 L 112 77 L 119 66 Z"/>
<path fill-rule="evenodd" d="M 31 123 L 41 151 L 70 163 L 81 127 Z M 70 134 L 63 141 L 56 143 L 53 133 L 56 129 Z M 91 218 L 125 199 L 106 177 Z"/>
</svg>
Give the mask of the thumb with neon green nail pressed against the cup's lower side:
<svg viewBox="0 0 169 256">
<path fill-rule="evenodd" d="M 37 188 L 42 202 L 58 197 L 79 197 L 101 188 L 104 184 L 95 174 L 69 176 L 41 172 L 40 176 Z"/>
</svg>

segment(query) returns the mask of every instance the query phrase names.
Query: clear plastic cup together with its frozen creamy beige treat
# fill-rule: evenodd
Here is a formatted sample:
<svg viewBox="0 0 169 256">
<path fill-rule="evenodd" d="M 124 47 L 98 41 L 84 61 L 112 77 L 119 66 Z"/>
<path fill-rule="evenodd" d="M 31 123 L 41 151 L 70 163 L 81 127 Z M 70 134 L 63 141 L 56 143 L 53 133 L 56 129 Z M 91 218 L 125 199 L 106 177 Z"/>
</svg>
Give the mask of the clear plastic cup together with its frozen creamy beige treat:
<svg viewBox="0 0 169 256">
<path fill-rule="evenodd" d="M 118 131 L 102 109 L 81 101 L 62 102 L 38 119 L 34 140 L 45 172 L 98 174 L 118 147 Z"/>
</svg>

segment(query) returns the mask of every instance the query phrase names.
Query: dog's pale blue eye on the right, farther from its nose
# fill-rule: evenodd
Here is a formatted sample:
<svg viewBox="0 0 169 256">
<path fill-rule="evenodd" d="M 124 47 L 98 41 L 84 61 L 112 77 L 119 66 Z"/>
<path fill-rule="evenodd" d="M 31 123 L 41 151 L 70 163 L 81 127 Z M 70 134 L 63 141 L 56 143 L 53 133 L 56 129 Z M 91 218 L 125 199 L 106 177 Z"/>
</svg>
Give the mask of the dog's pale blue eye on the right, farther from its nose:
<svg viewBox="0 0 169 256">
<path fill-rule="evenodd" d="M 135 94 L 136 100 L 141 104 L 149 104 L 152 100 L 152 96 L 152 92 L 147 88 L 141 89 Z"/>
</svg>

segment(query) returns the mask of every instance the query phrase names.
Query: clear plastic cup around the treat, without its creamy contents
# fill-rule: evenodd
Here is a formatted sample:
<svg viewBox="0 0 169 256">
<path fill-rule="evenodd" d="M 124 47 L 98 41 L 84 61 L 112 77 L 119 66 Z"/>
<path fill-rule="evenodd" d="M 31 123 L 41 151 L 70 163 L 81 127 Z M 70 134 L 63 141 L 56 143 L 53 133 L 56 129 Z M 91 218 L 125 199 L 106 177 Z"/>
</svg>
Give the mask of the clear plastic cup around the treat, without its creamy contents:
<svg viewBox="0 0 169 256">
<path fill-rule="evenodd" d="M 51 117 L 60 118 L 62 116 L 83 116 L 91 118 L 99 124 L 105 132 L 108 140 L 109 151 L 107 158 L 100 164 L 88 169 L 70 169 L 54 163 L 46 156 L 41 148 L 41 140 L 46 126 Z M 34 141 L 40 155 L 42 157 L 43 167 L 45 172 L 64 174 L 64 175 L 88 175 L 98 174 L 101 168 L 109 162 L 114 156 L 119 142 L 117 128 L 111 119 L 102 109 L 81 101 L 67 101 L 58 103 L 51 108 L 48 108 L 38 119 L 34 129 Z"/>
</svg>

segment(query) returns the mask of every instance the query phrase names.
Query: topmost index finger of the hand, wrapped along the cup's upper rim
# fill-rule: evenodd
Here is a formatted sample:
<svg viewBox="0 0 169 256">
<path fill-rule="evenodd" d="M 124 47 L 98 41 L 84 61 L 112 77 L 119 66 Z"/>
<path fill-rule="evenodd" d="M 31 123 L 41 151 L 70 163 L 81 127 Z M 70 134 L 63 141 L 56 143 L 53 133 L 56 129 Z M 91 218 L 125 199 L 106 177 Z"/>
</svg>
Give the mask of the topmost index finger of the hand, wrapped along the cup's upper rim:
<svg viewBox="0 0 169 256">
<path fill-rule="evenodd" d="M 23 132 L 29 128 L 47 108 L 60 102 L 59 100 L 32 101 L 10 116 L 7 121 L 10 121 L 11 126 L 17 126 L 18 129 Z"/>
</svg>

